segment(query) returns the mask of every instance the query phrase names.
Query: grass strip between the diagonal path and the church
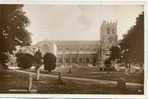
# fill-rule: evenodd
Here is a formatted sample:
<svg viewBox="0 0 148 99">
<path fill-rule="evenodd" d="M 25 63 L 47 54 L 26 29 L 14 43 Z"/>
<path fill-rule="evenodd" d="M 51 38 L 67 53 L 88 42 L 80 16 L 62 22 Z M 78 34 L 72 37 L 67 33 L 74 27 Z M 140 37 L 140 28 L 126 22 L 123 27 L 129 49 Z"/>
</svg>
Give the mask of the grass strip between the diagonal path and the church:
<svg viewBox="0 0 148 99">
<path fill-rule="evenodd" d="M 87 68 L 85 66 L 81 67 L 73 67 L 72 73 L 69 74 L 67 68 L 65 68 L 65 71 L 62 72 L 62 75 L 64 76 L 70 76 L 70 77 L 80 77 L 80 78 L 90 78 L 90 79 L 101 79 L 101 80 L 112 80 L 117 81 L 120 77 L 124 78 L 126 82 L 131 83 L 144 83 L 144 73 L 137 72 L 137 73 L 124 73 L 124 72 L 98 72 L 96 68 Z M 42 72 L 45 73 L 45 72 Z M 54 74 L 57 75 L 57 73 L 48 73 L 48 74 Z"/>
</svg>

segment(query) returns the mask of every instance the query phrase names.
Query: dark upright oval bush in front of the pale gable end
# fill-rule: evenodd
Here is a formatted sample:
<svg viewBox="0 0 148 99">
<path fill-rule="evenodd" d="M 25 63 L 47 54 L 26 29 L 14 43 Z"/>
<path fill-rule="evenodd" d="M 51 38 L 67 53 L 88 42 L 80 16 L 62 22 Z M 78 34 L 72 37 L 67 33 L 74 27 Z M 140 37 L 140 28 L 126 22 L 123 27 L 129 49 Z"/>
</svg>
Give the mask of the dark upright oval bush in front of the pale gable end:
<svg viewBox="0 0 148 99">
<path fill-rule="evenodd" d="M 44 60 L 44 69 L 48 72 L 54 70 L 56 67 L 56 56 L 52 53 L 46 53 L 43 57 Z"/>
</svg>

